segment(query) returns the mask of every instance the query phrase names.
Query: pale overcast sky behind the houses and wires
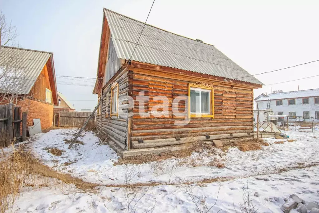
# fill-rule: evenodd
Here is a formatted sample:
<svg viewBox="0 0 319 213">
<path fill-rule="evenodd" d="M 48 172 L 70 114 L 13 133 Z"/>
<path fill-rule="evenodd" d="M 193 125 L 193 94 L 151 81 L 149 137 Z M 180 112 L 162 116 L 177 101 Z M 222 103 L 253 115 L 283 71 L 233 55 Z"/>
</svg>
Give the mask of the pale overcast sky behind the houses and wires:
<svg viewBox="0 0 319 213">
<path fill-rule="evenodd" d="M 23 48 L 54 53 L 56 75 L 96 77 L 103 7 L 145 21 L 152 0 L 9 1 L 0 9 L 17 26 Z M 148 23 L 215 45 L 250 74 L 319 59 L 319 1 L 155 0 Z M 319 62 L 256 76 L 264 84 L 319 74 Z M 58 82 L 94 85 L 94 80 Z M 81 79 L 80 79 L 81 80 Z M 88 81 L 88 82 L 86 82 Z M 254 90 L 319 88 L 319 76 Z M 93 87 L 57 85 L 74 108 L 92 109 Z"/>
</svg>

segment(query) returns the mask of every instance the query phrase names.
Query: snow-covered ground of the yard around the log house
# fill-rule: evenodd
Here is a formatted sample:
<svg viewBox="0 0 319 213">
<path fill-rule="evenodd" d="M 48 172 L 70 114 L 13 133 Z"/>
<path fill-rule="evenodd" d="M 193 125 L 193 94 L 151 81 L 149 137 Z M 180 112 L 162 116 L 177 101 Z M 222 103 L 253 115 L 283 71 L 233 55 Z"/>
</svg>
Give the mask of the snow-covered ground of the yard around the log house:
<svg viewBox="0 0 319 213">
<path fill-rule="evenodd" d="M 194 183 L 186 189 L 191 189 L 198 197 L 196 199 L 206 197 L 208 206 L 216 202 L 211 209 L 214 212 L 239 210 L 243 186 L 247 187 L 247 183 L 252 194 L 259 193 L 259 197 L 253 196 L 258 212 L 282 212 L 283 199 L 293 193 L 306 203 L 319 201 L 319 133 L 311 130 L 285 132 L 296 140 L 294 142 L 285 140 L 283 144 L 276 144 L 276 139 L 265 139 L 270 146 L 257 151 L 242 152 L 230 148 L 227 153 L 219 149 L 214 149 L 213 153 L 193 153 L 192 164 L 182 166 L 177 164 L 177 159 L 115 166 L 118 161 L 115 151 L 108 145 L 96 144 L 99 138 L 92 132 L 82 133 L 79 137 L 84 144 L 67 149 L 69 144 L 63 140 L 73 138 L 75 133 L 77 129 L 51 130 L 38 135 L 28 145 L 44 164 L 101 185 L 98 193 L 60 188 L 28 189 L 15 202 L 14 212 L 128 212 L 123 193 L 125 187 L 110 187 L 123 185 L 128 174 L 133 176 L 131 184 L 154 185 L 142 186 L 144 193 L 139 192 L 137 197 L 145 195 L 135 206 L 136 212 L 147 212 L 155 199 L 153 212 L 194 212 L 195 204 L 182 187 L 184 185 L 180 185 L 185 182 Z M 54 156 L 47 148 L 65 152 Z M 215 161 L 225 166 L 218 168 L 211 164 Z M 196 184 L 199 181 L 201 184 Z M 134 204 L 133 201 L 131 206 Z"/>
</svg>

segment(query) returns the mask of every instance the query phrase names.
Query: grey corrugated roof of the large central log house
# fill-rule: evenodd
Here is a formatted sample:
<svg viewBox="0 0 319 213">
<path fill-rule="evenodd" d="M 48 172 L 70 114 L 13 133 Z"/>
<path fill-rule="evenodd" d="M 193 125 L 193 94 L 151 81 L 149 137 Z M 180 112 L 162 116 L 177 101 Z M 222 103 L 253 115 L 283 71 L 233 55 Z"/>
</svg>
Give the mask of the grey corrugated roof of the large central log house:
<svg viewBox="0 0 319 213">
<path fill-rule="evenodd" d="M 104 9 L 104 13 L 117 56 L 130 59 L 144 23 L 107 9 Z M 131 60 L 228 79 L 250 75 L 213 45 L 197 42 L 147 24 Z M 239 80 L 263 84 L 253 76 Z"/>
</svg>

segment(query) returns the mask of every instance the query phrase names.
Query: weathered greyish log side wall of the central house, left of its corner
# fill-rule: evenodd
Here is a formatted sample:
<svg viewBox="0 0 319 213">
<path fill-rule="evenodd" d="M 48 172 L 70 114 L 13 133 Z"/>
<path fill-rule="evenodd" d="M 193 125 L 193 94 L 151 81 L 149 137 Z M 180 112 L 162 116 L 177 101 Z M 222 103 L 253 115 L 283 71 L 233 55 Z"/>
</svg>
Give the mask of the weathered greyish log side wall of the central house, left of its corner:
<svg viewBox="0 0 319 213">
<path fill-rule="evenodd" d="M 121 101 L 127 98 L 128 95 L 128 72 L 125 70 L 117 72 L 107 85 L 103 87 L 103 92 L 107 93 L 106 97 L 101 102 L 100 115 L 96 117 L 96 126 L 108 136 L 108 142 L 121 149 L 127 149 L 127 134 L 128 134 L 128 119 L 126 116 L 110 115 L 111 107 L 111 86 L 113 83 L 119 84 L 119 109 L 127 112 L 127 101 Z M 101 95 L 102 95 L 101 94 Z"/>
</svg>

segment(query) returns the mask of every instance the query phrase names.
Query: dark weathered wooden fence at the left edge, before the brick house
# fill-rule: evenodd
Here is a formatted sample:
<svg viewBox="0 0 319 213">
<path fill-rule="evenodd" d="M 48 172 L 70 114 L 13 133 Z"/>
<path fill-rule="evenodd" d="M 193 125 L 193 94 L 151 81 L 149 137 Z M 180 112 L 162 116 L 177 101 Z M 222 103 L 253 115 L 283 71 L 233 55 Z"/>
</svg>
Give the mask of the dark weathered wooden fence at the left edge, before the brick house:
<svg viewBox="0 0 319 213">
<path fill-rule="evenodd" d="M 26 112 L 22 113 L 21 119 L 20 107 L 13 107 L 12 104 L 0 105 L 0 147 L 26 140 L 26 119 Z"/>
</svg>

